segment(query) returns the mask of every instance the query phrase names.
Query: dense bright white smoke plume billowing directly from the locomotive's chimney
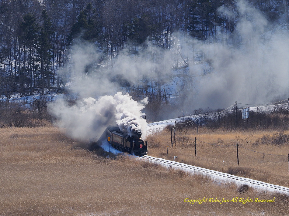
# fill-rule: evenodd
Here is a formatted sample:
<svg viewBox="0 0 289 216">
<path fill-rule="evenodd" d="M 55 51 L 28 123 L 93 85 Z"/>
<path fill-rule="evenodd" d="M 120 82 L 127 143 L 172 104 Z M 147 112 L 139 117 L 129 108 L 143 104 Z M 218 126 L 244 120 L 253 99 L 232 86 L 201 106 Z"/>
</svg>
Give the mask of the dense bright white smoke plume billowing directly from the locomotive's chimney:
<svg viewBox="0 0 289 216">
<path fill-rule="evenodd" d="M 124 134 L 146 135 L 146 120 L 140 117 L 147 104 L 132 100 L 128 94 L 101 96 L 98 100 L 89 97 L 69 106 L 62 98 L 50 104 L 49 111 L 57 118 L 56 124 L 67 129 L 67 133 L 81 140 L 96 140 L 109 125 L 119 125 Z"/>
</svg>

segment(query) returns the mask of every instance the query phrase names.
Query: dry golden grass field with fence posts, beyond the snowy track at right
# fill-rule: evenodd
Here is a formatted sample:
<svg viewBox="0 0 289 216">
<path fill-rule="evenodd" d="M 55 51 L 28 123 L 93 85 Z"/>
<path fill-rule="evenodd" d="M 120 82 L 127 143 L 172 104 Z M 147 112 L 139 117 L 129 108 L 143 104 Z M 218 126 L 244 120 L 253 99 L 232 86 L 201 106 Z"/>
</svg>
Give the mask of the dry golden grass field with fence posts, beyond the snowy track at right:
<svg viewBox="0 0 289 216">
<path fill-rule="evenodd" d="M 276 130 L 249 129 L 243 131 L 220 130 L 208 132 L 202 128 L 200 128 L 198 133 L 188 130 L 186 133 L 180 134 L 176 131 L 176 143 L 173 142 L 173 147 L 171 147 L 170 131 L 166 129 L 147 137 L 148 154 L 169 160 L 173 160 L 174 156 L 178 156 L 176 158 L 178 162 L 289 187 L 288 140 L 285 140 L 285 143 L 280 145 L 264 142 L 266 137 L 270 141 L 268 137 L 272 138 L 273 136 L 278 136 L 278 134 L 282 135 L 282 133 L 287 136 L 289 131 L 280 133 L 280 131 Z M 195 137 L 197 138 L 197 156 L 195 156 Z M 236 143 L 239 145 L 239 166 L 237 164 Z M 167 145 L 169 145 L 168 156 Z"/>
</svg>

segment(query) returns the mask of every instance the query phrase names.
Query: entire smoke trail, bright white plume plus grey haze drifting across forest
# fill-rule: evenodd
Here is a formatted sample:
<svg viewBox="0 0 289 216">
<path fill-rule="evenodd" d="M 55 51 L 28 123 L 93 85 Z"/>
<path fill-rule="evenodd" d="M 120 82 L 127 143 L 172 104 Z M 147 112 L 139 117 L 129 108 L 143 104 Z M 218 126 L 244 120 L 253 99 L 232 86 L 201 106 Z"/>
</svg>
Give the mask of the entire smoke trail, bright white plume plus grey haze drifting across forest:
<svg viewBox="0 0 289 216">
<path fill-rule="evenodd" d="M 77 100 L 74 106 L 62 99 L 50 105 L 57 124 L 76 138 L 98 137 L 115 123 L 124 133 L 141 130 L 144 136 L 146 123 L 139 115 L 147 102 L 136 103 L 117 92 L 130 92 L 135 98 L 144 92 L 180 95 L 170 99 L 172 109 L 159 111 L 162 107 L 158 101 L 151 106 L 155 108 L 150 113 L 159 113 L 162 119 L 189 114 L 200 107 L 226 108 L 235 101 L 262 104 L 287 98 L 287 26 L 273 28 L 261 12 L 245 1 L 238 1 L 234 10 L 221 7 L 219 13 L 226 19 L 238 16 L 236 28 L 226 34 L 218 32 L 206 42 L 174 32 L 171 49 L 147 42 L 138 47 L 138 54 L 123 49 L 114 59 L 104 60 L 92 44 L 73 46 L 62 78 L 67 77 L 65 88 Z M 173 70 L 185 63 L 188 67 Z M 172 84 L 176 76 L 182 80 Z"/>
</svg>

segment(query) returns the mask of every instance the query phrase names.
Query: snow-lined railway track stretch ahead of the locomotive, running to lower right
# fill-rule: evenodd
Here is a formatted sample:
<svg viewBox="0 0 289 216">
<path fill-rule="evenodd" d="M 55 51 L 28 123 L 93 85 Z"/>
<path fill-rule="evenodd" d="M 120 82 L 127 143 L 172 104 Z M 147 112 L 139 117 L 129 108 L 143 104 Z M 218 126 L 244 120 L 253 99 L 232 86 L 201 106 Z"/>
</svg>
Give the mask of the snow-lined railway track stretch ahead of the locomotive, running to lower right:
<svg viewBox="0 0 289 216">
<path fill-rule="evenodd" d="M 165 160 L 162 158 L 151 157 L 148 155 L 139 156 L 139 157 L 143 158 L 145 160 L 149 160 L 151 162 L 161 164 L 163 166 L 167 166 L 167 167 L 171 166 L 173 168 L 179 168 L 179 169 L 191 172 L 191 173 L 207 175 L 208 177 L 211 177 L 215 181 L 234 182 L 238 185 L 247 184 L 250 187 L 260 189 L 263 191 L 273 191 L 273 192 L 279 192 L 279 193 L 284 193 L 284 194 L 289 195 L 289 188 L 288 187 L 283 187 L 283 186 L 279 186 L 279 185 L 275 185 L 275 184 L 269 184 L 269 183 L 257 181 L 254 179 L 234 176 L 234 175 L 230 175 L 227 173 L 222 173 L 222 172 L 209 170 L 209 169 L 205 169 L 205 168 L 201 168 L 201 167 L 195 167 L 192 165 L 182 164 L 182 163 L 179 163 L 176 161 Z"/>
</svg>

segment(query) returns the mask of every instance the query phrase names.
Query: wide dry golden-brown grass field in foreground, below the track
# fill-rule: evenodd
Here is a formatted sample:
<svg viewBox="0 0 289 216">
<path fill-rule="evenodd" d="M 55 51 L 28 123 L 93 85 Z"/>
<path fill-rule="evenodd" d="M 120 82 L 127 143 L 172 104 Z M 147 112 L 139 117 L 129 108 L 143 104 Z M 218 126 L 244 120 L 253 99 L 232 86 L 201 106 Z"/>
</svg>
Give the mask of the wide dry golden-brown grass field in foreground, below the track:
<svg viewBox="0 0 289 216">
<path fill-rule="evenodd" d="M 101 150 L 79 148 L 83 145 L 55 127 L 0 129 L 0 215 L 289 215 L 288 196 L 252 189 L 239 193 L 234 184 L 212 182 L 128 156 L 104 157 Z M 158 157 L 162 151 L 163 146 L 150 150 Z M 201 156 L 185 158 L 176 153 L 179 160 L 184 157 L 195 165 L 204 160 L 206 166 L 220 169 L 220 164 Z M 240 161 L 243 166 L 245 158 Z M 250 168 L 251 175 L 253 171 Z M 280 168 L 278 178 L 286 177 L 283 171 Z M 275 202 L 184 202 L 203 197 L 275 197 Z"/>
</svg>

